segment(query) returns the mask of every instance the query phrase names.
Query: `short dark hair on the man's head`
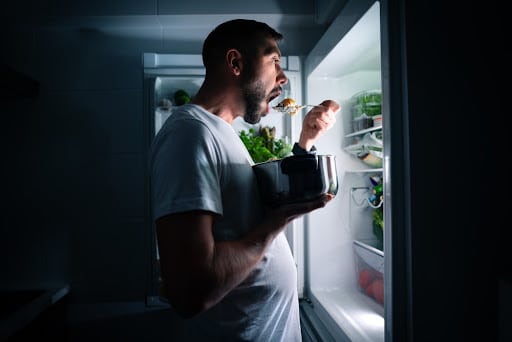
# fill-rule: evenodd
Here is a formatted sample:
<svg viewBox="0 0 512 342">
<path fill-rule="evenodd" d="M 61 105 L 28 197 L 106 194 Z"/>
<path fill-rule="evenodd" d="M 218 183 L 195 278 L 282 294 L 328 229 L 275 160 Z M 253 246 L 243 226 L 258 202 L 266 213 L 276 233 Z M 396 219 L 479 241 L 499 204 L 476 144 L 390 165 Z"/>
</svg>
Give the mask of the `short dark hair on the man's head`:
<svg viewBox="0 0 512 342">
<path fill-rule="evenodd" d="M 234 19 L 217 26 L 203 44 L 203 64 L 205 68 L 215 69 L 224 59 L 229 49 L 237 49 L 251 58 L 267 39 L 280 41 L 283 35 L 269 25 L 251 19 Z"/>
</svg>

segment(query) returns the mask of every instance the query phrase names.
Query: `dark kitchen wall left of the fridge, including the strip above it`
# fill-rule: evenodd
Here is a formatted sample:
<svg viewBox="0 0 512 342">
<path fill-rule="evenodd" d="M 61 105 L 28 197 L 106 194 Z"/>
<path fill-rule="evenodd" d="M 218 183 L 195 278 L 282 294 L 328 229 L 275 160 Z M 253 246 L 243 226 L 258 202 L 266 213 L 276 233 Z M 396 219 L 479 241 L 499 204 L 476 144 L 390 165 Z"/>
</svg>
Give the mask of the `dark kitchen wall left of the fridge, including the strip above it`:
<svg viewBox="0 0 512 342">
<path fill-rule="evenodd" d="M 243 16 L 282 31 L 283 54 L 305 55 L 329 21 L 315 13 L 307 0 L 3 7 L 0 289 L 69 284 L 75 304 L 143 301 L 142 54 L 199 54 L 216 24 Z"/>
</svg>

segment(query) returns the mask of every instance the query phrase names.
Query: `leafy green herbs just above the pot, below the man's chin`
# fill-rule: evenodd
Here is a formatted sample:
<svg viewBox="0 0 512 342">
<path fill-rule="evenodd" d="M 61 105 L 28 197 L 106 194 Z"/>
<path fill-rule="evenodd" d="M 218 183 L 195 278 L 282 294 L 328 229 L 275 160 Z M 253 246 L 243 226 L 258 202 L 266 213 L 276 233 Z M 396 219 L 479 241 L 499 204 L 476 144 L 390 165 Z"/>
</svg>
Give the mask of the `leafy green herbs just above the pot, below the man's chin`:
<svg viewBox="0 0 512 342">
<path fill-rule="evenodd" d="M 240 132 L 240 139 L 255 163 L 262 163 L 269 160 L 281 159 L 288 156 L 292 151 L 292 145 L 283 139 L 275 138 L 275 127 L 262 127 L 259 132 L 254 128 Z"/>
</svg>

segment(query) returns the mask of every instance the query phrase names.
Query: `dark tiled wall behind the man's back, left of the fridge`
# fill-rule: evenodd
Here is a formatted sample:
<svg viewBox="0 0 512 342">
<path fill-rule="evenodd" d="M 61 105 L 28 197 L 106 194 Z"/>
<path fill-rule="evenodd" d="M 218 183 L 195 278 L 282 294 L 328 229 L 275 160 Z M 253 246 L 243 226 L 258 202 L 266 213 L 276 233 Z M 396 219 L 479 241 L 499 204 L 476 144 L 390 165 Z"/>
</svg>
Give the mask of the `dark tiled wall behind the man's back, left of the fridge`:
<svg viewBox="0 0 512 342">
<path fill-rule="evenodd" d="M 134 30 L 11 27 L 30 39 L 12 39 L 6 63 L 40 88 L 2 100 L 2 287 L 65 282 L 78 301 L 144 299 L 141 56 L 161 42 Z"/>
</svg>

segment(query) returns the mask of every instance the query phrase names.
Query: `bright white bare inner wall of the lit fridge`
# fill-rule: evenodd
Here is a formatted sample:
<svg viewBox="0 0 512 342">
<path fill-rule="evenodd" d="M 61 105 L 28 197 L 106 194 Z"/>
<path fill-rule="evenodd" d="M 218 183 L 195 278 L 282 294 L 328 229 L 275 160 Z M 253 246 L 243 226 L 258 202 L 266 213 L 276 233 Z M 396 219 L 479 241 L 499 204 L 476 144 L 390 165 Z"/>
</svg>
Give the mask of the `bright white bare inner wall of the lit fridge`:
<svg viewBox="0 0 512 342">
<path fill-rule="evenodd" d="M 354 256 L 354 240 L 372 235 L 371 213 L 364 200 L 371 191 L 369 176 L 380 171 L 344 150 L 346 136 L 352 132 L 351 97 L 363 90 L 381 89 L 379 3 L 343 38 L 334 27 L 323 39 L 339 42 L 323 58 L 308 56 L 305 90 L 308 103 L 330 98 L 342 106 L 335 127 L 316 143 L 321 154 L 336 156 L 340 188 L 331 203 L 306 219 L 308 295 L 351 340 L 383 341 L 384 308 L 358 288 Z M 354 193 L 355 188 L 362 188 L 363 193 Z M 361 226 L 367 228 L 358 229 Z"/>
</svg>

